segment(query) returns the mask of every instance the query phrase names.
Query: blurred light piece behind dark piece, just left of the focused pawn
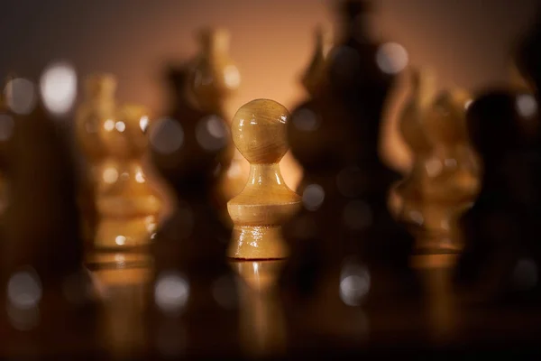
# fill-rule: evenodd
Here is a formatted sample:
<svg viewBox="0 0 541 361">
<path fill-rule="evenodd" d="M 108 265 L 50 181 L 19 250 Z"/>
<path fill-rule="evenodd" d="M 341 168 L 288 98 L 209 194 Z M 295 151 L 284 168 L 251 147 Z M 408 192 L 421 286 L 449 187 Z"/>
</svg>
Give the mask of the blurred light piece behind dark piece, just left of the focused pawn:
<svg viewBox="0 0 541 361">
<path fill-rule="evenodd" d="M 199 51 L 188 72 L 188 98 L 205 113 L 228 122 L 228 100 L 239 88 L 241 75 L 229 56 L 230 34 L 225 29 L 203 29 L 198 33 Z M 243 190 L 246 173 L 243 158 L 231 138 L 220 154 L 220 180 L 217 182 L 217 205 L 228 219 L 226 204 Z"/>
</svg>

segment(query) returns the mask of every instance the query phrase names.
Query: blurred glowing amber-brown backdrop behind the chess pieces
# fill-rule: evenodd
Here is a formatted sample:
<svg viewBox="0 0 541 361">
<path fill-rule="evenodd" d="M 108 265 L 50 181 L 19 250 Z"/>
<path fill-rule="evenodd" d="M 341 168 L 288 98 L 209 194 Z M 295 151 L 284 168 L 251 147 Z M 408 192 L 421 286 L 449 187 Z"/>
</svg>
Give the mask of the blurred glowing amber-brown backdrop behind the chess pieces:
<svg viewBox="0 0 541 361">
<path fill-rule="evenodd" d="M 410 63 L 430 66 L 442 85 L 479 88 L 505 81 L 509 49 L 534 15 L 536 0 L 374 1 L 373 32 L 402 43 Z M 69 60 L 79 75 L 110 71 L 119 97 L 160 113 L 161 71 L 194 54 L 193 32 L 232 32 L 242 88 L 230 111 L 254 97 L 292 106 L 317 23 L 333 23 L 332 1 L 317 0 L 0 0 L 0 76 L 39 77 L 50 60 Z M 396 103 L 394 103 L 396 104 Z M 394 106 L 396 108 L 396 105 Z M 392 109 L 392 108 L 391 108 Z M 390 112 L 392 119 L 393 112 Z M 387 155 L 402 168 L 408 153 L 393 134 Z"/>
</svg>

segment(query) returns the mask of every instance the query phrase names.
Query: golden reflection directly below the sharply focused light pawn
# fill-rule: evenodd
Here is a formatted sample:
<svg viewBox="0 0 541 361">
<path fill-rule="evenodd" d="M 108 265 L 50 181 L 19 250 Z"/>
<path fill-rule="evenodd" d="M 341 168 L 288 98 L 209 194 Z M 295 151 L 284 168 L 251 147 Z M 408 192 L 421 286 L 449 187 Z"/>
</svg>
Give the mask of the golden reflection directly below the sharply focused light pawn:
<svg viewBox="0 0 541 361">
<path fill-rule="evenodd" d="M 248 356 L 282 355 L 286 345 L 283 310 L 277 292 L 277 278 L 284 261 L 234 262 L 241 276 L 241 345 Z"/>
</svg>

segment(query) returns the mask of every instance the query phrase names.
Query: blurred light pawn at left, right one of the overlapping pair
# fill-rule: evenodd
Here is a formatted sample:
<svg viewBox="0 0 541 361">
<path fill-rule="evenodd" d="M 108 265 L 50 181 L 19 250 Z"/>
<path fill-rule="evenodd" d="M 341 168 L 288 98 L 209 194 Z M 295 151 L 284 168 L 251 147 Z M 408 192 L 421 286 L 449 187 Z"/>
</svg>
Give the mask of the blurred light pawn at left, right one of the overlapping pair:
<svg viewBox="0 0 541 361">
<path fill-rule="evenodd" d="M 105 160 L 96 190 L 97 248 L 148 245 L 155 231 L 161 201 L 142 165 L 149 121 L 144 107 L 126 105 L 100 130 Z"/>
</svg>

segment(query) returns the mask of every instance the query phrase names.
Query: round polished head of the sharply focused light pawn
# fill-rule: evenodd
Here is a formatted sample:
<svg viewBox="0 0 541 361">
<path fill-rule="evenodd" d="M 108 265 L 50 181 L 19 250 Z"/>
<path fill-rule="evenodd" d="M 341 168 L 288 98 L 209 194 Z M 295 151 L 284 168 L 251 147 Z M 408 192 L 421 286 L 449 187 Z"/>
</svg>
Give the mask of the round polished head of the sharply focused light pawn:
<svg viewBox="0 0 541 361">
<path fill-rule="evenodd" d="M 287 124 L 289 111 L 269 99 L 256 99 L 244 104 L 231 123 L 233 141 L 252 164 L 280 162 L 288 152 Z"/>
</svg>

